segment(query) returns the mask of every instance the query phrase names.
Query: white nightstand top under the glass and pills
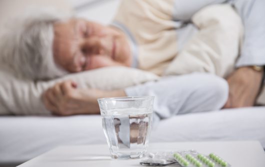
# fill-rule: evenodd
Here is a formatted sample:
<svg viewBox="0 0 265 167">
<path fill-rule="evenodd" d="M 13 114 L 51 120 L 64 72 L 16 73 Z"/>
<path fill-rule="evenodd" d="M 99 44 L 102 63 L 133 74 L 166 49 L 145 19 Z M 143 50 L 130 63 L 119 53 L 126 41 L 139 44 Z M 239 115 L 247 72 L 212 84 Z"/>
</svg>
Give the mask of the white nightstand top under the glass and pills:
<svg viewBox="0 0 265 167">
<path fill-rule="evenodd" d="M 169 142 L 152 143 L 149 150 L 188 150 L 200 153 L 214 152 L 232 167 L 264 167 L 265 152 L 258 141 L 208 141 L 208 142 Z M 56 147 L 19 167 L 88 167 L 88 166 L 142 166 L 140 159 L 111 160 L 107 145 L 71 145 Z M 178 166 L 178 165 L 174 165 Z"/>
</svg>

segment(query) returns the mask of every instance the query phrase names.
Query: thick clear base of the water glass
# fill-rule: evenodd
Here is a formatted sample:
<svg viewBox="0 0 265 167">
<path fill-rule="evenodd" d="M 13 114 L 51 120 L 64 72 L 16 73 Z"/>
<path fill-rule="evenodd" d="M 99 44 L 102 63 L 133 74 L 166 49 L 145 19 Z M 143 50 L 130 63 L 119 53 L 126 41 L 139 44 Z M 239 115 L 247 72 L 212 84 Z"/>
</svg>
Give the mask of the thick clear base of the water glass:
<svg viewBox="0 0 265 167">
<path fill-rule="evenodd" d="M 145 151 L 142 152 L 110 152 L 112 159 L 138 159 L 144 157 Z"/>
</svg>

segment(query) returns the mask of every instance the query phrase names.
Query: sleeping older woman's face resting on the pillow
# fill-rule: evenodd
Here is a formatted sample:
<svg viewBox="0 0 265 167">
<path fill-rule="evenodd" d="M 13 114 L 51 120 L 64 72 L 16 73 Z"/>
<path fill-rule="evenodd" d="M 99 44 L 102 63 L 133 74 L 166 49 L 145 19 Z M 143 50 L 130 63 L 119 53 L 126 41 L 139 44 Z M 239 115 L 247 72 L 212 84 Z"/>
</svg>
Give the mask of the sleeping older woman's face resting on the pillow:
<svg viewBox="0 0 265 167">
<path fill-rule="evenodd" d="M 114 27 L 75 18 L 53 27 L 54 61 L 69 72 L 131 64 L 127 39 Z"/>
</svg>

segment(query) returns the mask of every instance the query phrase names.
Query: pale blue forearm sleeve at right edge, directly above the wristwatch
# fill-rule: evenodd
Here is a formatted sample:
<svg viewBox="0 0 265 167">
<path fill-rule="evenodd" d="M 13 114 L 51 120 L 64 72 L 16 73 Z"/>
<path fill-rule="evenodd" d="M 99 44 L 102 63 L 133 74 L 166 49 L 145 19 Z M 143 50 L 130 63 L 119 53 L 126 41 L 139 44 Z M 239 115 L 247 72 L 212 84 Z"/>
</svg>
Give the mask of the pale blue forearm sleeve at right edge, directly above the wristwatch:
<svg viewBox="0 0 265 167">
<path fill-rule="evenodd" d="M 234 0 L 244 24 L 244 41 L 236 66 L 265 65 L 265 0 Z"/>
</svg>

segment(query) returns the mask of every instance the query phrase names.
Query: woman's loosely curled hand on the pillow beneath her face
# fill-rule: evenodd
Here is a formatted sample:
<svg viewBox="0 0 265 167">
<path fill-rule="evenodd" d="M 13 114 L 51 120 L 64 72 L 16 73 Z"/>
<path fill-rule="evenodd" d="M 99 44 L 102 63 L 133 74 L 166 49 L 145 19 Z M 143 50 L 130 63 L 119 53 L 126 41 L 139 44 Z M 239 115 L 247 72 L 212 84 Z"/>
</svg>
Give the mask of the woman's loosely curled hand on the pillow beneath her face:
<svg viewBox="0 0 265 167">
<path fill-rule="evenodd" d="M 74 81 L 67 80 L 48 88 L 42 96 L 45 107 L 53 114 L 72 115 L 99 113 L 97 98 L 101 91 L 80 89 Z"/>
</svg>

